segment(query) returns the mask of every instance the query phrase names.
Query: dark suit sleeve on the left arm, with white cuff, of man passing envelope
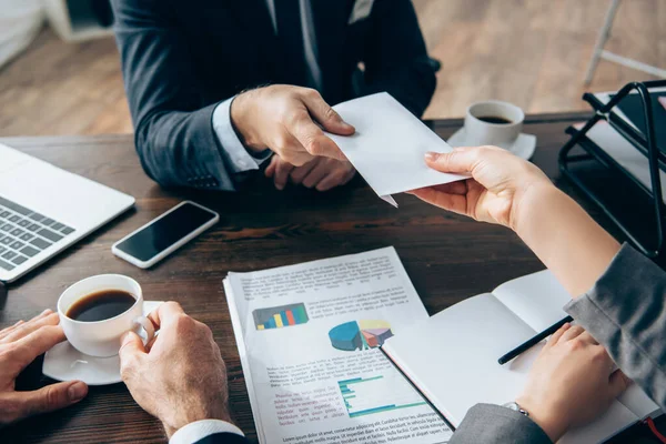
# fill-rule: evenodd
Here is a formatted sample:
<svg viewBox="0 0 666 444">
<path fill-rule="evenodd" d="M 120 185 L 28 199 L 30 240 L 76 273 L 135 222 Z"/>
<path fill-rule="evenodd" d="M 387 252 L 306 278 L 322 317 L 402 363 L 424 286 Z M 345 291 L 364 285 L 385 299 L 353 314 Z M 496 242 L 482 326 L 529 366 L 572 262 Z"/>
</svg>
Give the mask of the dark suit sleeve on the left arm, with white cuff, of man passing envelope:
<svg viewBox="0 0 666 444">
<path fill-rule="evenodd" d="M 144 171 L 171 186 L 234 190 L 198 90 L 188 42 L 164 0 L 112 0 L 134 143 Z"/>
</svg>

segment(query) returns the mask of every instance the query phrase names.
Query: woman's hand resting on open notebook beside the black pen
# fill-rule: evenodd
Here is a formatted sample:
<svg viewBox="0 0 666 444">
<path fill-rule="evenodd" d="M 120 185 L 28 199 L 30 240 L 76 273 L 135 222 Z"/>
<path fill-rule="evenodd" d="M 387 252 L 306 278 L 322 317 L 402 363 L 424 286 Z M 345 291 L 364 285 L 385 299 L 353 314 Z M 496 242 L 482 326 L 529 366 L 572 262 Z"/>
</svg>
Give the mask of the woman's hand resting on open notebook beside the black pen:
<svg viewBox="0 0 666 444">
<path fill-rule="evenodd" d="M 556 442 L 564 433 L 602 415 L 630 381 L 606 350 L 581 326 L 553 334 L 529 371 L 516 402 Z"/>
</svg>

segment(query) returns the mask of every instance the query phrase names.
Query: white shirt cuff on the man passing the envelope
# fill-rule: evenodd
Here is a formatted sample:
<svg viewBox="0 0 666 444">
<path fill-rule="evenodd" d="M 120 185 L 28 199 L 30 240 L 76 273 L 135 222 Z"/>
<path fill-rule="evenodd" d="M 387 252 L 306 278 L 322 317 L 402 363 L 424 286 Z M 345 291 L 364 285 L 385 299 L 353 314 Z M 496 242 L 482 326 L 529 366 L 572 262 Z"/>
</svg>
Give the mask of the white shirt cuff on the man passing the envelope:
<svg viewBox="0 0 666 444">
<path fill-rule="evenodd" d="M 222 153 L 226 158 L 229 168 L 234 173 L 259 170 L 272 154 L 265 150 L 256 155 L 248 152 L 243 142 L 239 139 L 231 123 L 231 102 L 235 97 L 221 102 L 213 111 L 213 129 L 222 145 Z"/>
</svg>

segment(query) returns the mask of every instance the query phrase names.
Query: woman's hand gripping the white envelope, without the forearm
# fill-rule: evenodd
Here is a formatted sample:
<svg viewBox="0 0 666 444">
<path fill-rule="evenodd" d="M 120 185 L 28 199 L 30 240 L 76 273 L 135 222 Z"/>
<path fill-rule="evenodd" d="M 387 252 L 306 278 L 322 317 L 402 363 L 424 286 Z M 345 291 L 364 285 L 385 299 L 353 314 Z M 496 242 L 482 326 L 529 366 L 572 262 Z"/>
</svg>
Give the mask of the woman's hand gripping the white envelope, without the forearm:
<svg viewBox="0 0 666 444">
<path fill-rule="evenodd" d="M 427 153 L 427 165 L 472 179 L 414 190 L 418 199 L 477 221 L 515 229 L 523 196 L 535 189 L 553 188 L 532 163 L 497 147 L 456 148 L 451 153 Z"/>
</svg>

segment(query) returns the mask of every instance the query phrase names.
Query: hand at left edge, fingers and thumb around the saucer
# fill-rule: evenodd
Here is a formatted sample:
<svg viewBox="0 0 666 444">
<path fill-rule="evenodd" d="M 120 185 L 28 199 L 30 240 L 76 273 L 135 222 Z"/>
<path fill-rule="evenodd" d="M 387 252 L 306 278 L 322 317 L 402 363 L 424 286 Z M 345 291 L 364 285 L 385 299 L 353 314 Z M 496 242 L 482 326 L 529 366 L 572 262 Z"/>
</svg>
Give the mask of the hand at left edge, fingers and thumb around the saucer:
<svg viewBox="0 0 666 444">
<path fill-rule="evenodd" d="M 0 426 L 81 401 L 88 386 L 81 381 L 60 382 L 33 392 L 17 392 L 16 380 L 37 356 L 64 341 L 60 319 L 50 310 L 28 322 L 0 331 Z"/>
</svg>

